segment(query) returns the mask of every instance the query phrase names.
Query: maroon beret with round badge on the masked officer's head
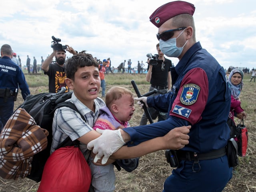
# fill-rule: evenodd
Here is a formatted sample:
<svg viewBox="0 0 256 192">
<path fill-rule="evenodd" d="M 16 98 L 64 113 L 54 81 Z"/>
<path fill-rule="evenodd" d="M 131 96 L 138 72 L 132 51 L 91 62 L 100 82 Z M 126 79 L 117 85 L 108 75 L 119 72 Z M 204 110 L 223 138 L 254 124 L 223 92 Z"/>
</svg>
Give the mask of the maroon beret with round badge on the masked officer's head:
<svg viewBox="0 0 256 192">
<path fill-rule="evenodd" d="M 195 12 L 195 7 L 193 4 L 185 1 L 173 1 L 166 3 L 158 7 L 151 15 L 150 22 L 152 22 L 156 27 L 160 27 L 164 22 L 170 18 L 180 15 L 180 14 L 190 14 L 193 15 Z"/>
</svg>

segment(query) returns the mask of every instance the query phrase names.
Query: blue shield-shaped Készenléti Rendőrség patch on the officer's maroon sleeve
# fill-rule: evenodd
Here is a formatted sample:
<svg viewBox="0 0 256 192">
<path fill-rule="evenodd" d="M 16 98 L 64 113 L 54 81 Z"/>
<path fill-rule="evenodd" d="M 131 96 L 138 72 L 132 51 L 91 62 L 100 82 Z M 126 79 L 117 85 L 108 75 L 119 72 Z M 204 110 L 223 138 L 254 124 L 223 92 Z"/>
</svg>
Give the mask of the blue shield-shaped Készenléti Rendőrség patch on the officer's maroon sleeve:
<svg viewBox="0 0 256 192">
<path fill-rule="evenodd" d="M 196 84 L 186 84 L 183 86 L 180 95 L 180 102 L 184 105 L 192 105 L 196 102 L 200 87 Z"/>
</svg>

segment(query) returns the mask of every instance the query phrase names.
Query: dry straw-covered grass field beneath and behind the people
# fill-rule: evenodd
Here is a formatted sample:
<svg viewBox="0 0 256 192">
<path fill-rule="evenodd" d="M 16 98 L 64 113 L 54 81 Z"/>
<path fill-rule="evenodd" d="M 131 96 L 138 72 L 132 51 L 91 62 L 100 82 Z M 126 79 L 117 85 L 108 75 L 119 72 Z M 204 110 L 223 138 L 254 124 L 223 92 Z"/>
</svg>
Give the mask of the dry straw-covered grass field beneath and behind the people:
<svg viewBox="0 0 256 192">
<path fill-rule="evenodd" d="M 108 76 L 106 77 L 107 90 L 115 85 L 110 82 Z M 124 74 L 122 78 L 128 83 L 118 83 L 118 85 L 134 92 L 129 82 L 135 76 Z M 142 78 L 145 78 L 145 76 L 142 75 Z M 239 159 L 240 164 L 234 168 L 233 178 L 228 182 L 224 192 L 256 192 L 256 83 L 249 81 L 250 75 L 246 75 L 244 88 L 240 96 L 242 107 L 248 114 L 248 118 L 244 121 L 248 128 L 248 151 L 246 157 Z M 141 94 L 148 92 L 148 83 L 137 83 L 137 85 Z M 30 88 L 31 94 L 47 92 L 47 90 L 47 86 Z M 22 98 L 19 95 L 15 106 L 17 107 L 21 103 Z M 142 109 L 136 105 L 136 111 L 130 121 L 131 126 L 139 124 L 142 114 Z M 164 180 L 170 175 L 171 171 L 172 169 L 165 161 L 164 151 L 148 154 L 140 158 L 138 168 L 131 173 L 116 170 L 116 192 L 161 192 Z M 36 192 L 38 186 L 39 183 L 27 178 L 16 181 L 0 178 L 0 192 Z"/>
</svg>

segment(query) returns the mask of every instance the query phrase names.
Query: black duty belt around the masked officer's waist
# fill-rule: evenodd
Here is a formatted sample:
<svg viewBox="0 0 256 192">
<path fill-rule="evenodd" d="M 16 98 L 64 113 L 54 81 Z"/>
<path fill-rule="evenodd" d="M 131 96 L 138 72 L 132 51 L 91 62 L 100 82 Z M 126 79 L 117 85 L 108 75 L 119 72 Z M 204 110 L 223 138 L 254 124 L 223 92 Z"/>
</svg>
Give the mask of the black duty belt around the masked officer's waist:
<svg viewBox="0 0 256 192">
<path fill-rule="evenodd" d="M 178 160 L 186 160 L 186 161 L 196 161 L 196 160 L 208 160 L 208 159 L 216 159 L 226 155 L 226 147 L 220 148 L 218 150 L 213 150 L 208 153 L 196 153 L 191 151 L 176 151 Z"/>
</svg>

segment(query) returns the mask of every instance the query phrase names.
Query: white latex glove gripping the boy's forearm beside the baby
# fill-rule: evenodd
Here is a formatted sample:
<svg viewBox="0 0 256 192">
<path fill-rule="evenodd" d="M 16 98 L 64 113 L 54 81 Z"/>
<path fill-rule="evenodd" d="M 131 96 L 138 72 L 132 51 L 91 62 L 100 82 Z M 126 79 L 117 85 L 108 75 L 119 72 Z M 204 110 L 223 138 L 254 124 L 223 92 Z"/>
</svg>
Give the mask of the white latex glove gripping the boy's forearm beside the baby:
<svg viewBox="0 0 256 192">
<path fill-rule="evenodd" d="M 106 164 L 108 161 L 108 158 L 116 152 L 120 147 L 122 147 L 125 142 L 124 139 L 122 138 L 120 129 L 118 130 L 102 130 L 97 128 L 97 132 L 102 134 L 98 138 L 90 141 L 87 144 L 88 150 L 92 150 L 93 153 L 96 154 L 94 158 L 94 163 L 96 163 L 102 156 L 101 163 Z"/>
</svg>

